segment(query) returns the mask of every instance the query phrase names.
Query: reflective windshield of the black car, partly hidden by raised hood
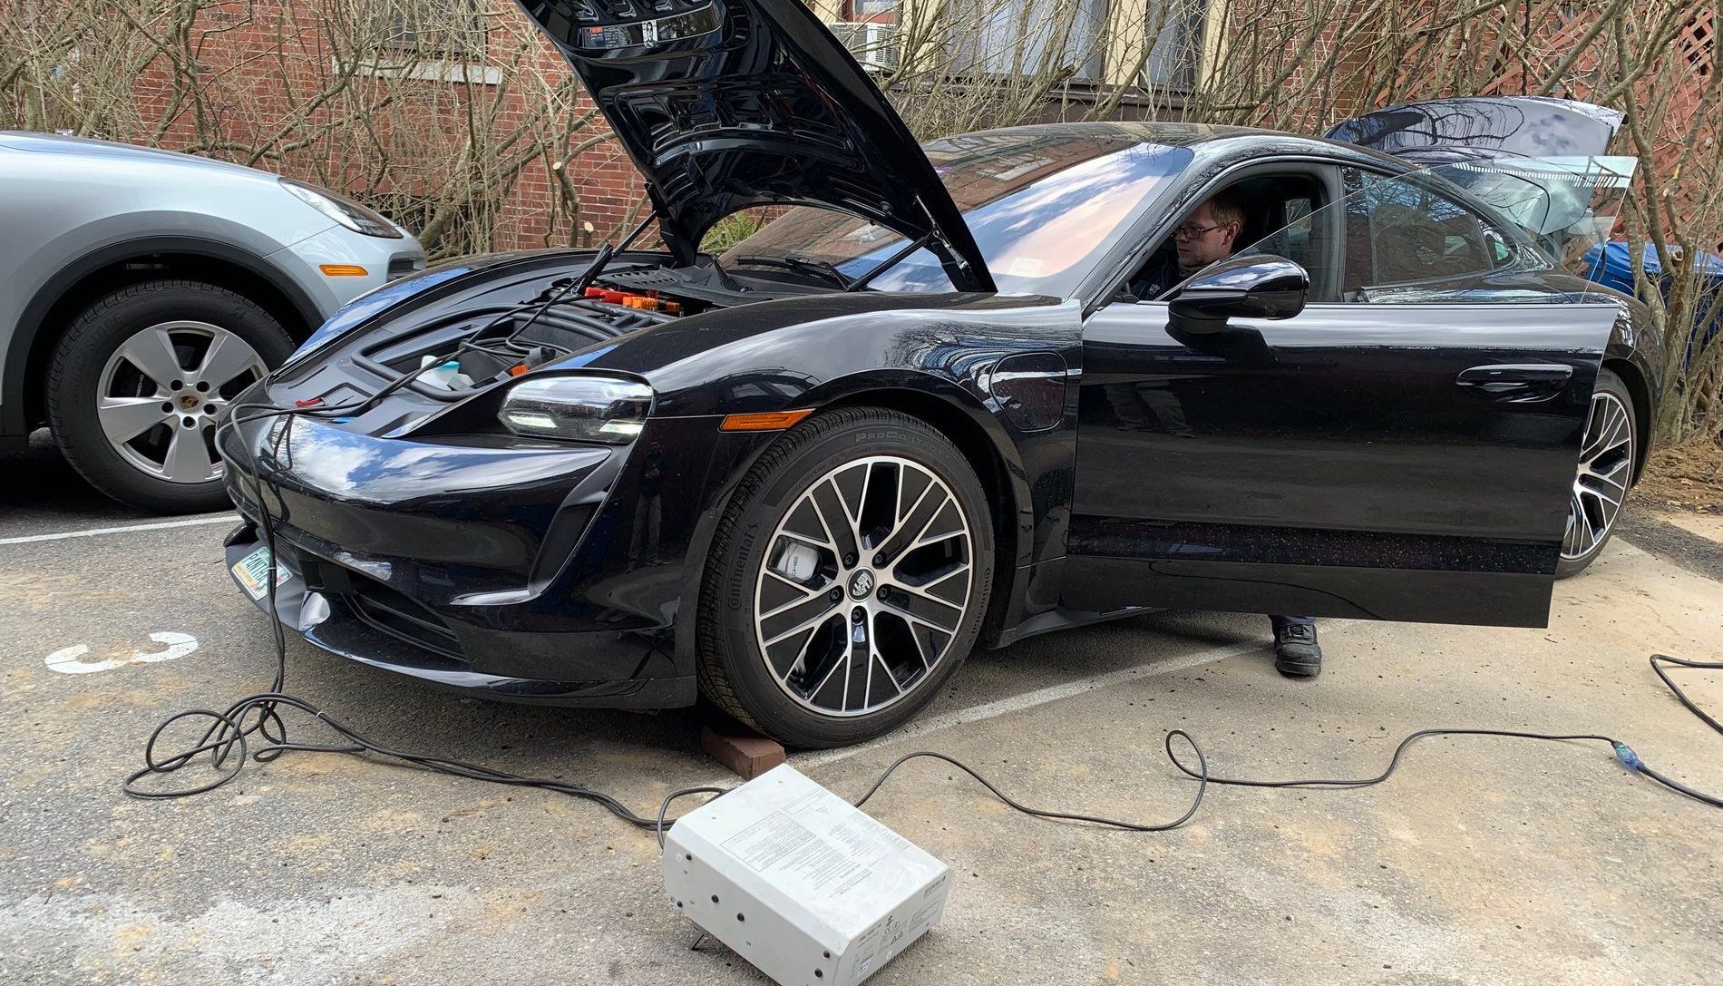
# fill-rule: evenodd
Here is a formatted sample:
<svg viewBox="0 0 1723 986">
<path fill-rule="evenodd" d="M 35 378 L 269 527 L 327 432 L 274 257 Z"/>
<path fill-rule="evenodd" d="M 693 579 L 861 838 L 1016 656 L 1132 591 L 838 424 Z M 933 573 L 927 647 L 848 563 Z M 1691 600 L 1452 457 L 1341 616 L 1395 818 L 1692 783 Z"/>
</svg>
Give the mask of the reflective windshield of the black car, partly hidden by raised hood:
<svg viewBox="0 0 1723 986">
<path fill-rule="evenodd" d="M 968 222 L 999 291 L 1068 296 L 1103 248 L 1191 162 L 1182 147 L 1113 134 L 998 131 L 922 145 Z M 905 246 L 884 226 L 829 209 L 796 207 L 724 252 L 830 264 L 860 278 Z M 870 288 L 948 291 L 939 259 L 915 250 Z"/>
</svg>

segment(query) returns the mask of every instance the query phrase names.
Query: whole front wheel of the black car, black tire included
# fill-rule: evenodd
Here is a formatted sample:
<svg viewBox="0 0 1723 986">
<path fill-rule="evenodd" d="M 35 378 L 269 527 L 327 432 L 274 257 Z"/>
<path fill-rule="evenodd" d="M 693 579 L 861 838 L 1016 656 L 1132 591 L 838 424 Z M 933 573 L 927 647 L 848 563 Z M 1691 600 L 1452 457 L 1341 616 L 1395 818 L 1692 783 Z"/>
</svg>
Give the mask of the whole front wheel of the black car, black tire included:
<svg viewBox="0 0 1723 986">
<path fill-rule="evenodd" d="M 886 734 L 968 657 L 991 583 L 987 496 L 949 438 L 877 407 L 815 415 L 760 457 L 718 521 L 701 691 L 787 746 Z"/>
</svg>

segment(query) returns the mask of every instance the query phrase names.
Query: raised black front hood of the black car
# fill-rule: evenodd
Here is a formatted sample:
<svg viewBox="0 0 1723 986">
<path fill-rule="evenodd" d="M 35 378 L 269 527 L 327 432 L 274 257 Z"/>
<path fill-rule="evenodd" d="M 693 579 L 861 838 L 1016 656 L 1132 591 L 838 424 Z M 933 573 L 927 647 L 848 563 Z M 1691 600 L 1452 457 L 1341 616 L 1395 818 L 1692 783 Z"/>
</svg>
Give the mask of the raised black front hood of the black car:
<svg viewBox="0 0 1723 986">
<path fill-rule="evenodd" d="M 927 238 L 955 288 L 992 276 L 903 119 L 798 0 L 517 0 L 634 159 L 691 264 L 718 219 L 837 209 Z"/>
</svg>

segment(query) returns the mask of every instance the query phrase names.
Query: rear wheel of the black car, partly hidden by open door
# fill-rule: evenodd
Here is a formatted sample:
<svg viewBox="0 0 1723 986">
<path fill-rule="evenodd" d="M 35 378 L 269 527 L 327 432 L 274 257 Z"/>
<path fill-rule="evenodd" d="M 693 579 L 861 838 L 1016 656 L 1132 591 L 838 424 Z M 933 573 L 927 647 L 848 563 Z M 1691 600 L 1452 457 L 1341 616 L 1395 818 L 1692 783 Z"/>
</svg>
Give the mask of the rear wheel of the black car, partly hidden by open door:
<svg viewBox="0 0 1723 986">
<path fill-rule="evenodd" d="M 1592 391 L 1580 440 L 1580 465 L 1568 496 L 1568 529 L 1556 562 L 1558 579 L 1583 572 L 1609 543 L 1633 483 L 1639 452 L 1633 395 L 1621 378 L 1611 371 L 1597 371 L 1597 388 Z"/>
</svg>

